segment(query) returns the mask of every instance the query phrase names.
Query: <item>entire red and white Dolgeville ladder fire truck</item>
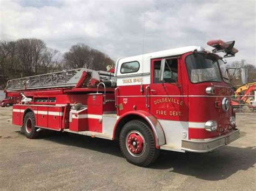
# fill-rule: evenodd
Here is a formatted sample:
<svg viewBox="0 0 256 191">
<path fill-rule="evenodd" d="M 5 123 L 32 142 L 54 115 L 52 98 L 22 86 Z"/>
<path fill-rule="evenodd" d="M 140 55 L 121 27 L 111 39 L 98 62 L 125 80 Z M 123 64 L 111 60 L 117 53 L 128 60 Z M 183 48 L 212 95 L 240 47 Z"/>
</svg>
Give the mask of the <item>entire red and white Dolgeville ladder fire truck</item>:
<svg viewBox="0 0 256 191">
<path fill-rule="evenodd" d="M 90 69 L 10 80 L 23 100 L 12 123 L 27 138 L 42 130 L 119 140 L 132 164 L 147 166 L 159 150 L 204 153 L 239 138 L 223 58 L 234 42 L 187 46 L 116 61 L 114 74 Z M 228 46 L 227 46 L 228 45 Z"/>
</svg>

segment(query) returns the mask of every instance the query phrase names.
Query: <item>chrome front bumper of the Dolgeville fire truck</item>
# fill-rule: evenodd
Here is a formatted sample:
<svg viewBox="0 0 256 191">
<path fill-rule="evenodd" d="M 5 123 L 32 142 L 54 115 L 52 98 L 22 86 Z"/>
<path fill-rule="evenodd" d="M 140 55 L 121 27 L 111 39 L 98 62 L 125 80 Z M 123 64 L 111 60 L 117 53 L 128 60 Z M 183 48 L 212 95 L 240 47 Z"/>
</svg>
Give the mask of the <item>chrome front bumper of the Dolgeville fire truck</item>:
<svg viewBox="0 0 256 191">
<path fill-rule="evenodd" d="M 214 150 L 220 146 L 230 144 L 240 137 L 239 130 L 233 130 L 226 135 L 207 140 L 182 140 L 181 150 L 188 152 L 204 153 Z"/>
</svg>

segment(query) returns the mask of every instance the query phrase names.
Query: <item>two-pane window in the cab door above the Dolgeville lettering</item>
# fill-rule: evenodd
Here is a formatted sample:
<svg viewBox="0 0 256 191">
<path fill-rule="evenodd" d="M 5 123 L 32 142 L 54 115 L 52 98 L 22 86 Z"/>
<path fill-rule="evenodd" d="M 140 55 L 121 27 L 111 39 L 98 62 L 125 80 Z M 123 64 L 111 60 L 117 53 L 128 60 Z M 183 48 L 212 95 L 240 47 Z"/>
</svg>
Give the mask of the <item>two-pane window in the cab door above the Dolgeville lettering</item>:
<svg viewBox="0 0 256 191">
<path fill-rule="evenodd" d="M 161 60 L 154 62 L 154 83 L 160 81 Z M 164 69 L 164 82 L 176 83 L 178 81 L 178 59 L 167 59 Z"/>
</svg>

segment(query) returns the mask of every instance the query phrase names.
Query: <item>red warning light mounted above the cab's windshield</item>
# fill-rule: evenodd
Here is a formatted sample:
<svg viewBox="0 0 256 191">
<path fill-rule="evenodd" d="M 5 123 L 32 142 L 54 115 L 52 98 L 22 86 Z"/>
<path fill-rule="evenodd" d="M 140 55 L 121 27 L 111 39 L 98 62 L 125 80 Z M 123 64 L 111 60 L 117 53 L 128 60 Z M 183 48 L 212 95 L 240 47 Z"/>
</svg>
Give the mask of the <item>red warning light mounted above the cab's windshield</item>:
<svg viewBox="0 0 256 191">
<path fill-rule="evenodd" d="M 235 53 L 238 53 L 238 49 L 234 48 L 235 41 L 224 42 L 223 40 L 210 40 L 207 42 L 207 45 L 212 46 L 214 49 L 213 53 L 224 52 L 226 53 L 223 57 L 228 58 L 235 56 Z"/>
</svg>

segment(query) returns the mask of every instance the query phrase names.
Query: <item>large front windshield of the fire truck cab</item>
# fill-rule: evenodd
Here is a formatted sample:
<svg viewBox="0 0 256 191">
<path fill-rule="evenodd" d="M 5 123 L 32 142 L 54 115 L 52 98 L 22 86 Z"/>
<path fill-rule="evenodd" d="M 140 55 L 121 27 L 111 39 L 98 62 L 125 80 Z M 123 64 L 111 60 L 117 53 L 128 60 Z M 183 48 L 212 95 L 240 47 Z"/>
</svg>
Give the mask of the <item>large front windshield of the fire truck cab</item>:
<svg viewBox="0 0 256 191">
<path fill-rule="evenodd" d="M 212 54 L 190 54 L 186 57 L 186 66 L 192 83 L 222 81 L 218 61 Z"/>
</svg>

